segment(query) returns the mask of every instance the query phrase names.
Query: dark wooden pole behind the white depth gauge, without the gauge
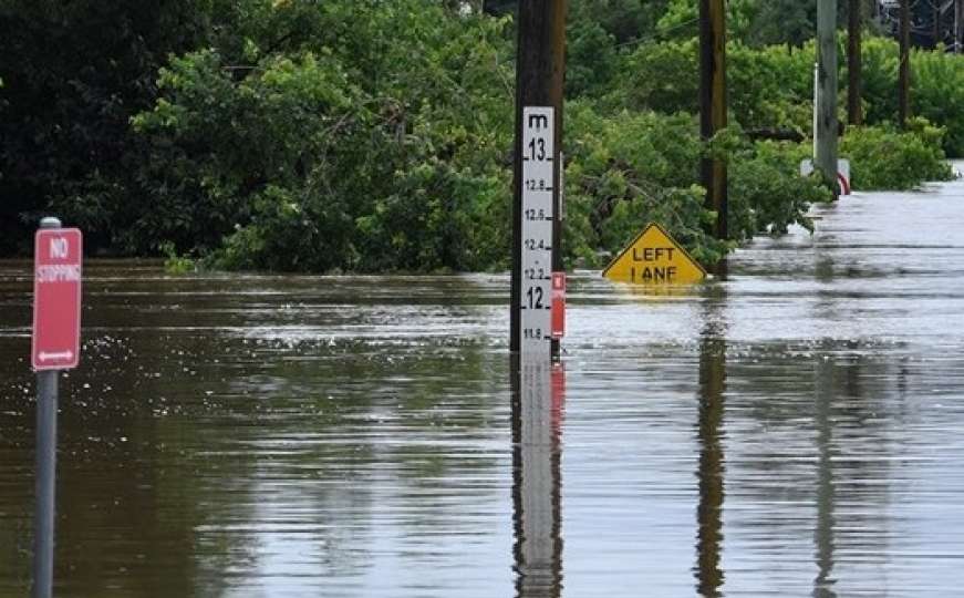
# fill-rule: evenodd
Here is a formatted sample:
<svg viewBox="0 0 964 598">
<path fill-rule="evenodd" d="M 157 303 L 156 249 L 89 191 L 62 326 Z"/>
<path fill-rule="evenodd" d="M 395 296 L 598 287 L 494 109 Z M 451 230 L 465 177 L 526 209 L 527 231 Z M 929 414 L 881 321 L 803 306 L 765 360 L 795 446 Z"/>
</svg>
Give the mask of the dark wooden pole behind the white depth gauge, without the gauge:
<svg viewBox="0 0 964 598">
<path fill-rule="evenodd" d="M 526 106 L 554 109 L 552 190 L 554 218 L 552 220 L 552 269 L 562 269 L 560 252 L 560 189 L 558 182 L 562 168 L 559 153 L 562 148 L 562 83 L 566 71 L 566 12 L 567 0 L 519 0 L 518 59 L 516 64 L 516 144 L 515 197 L 512 200 L 512 279 L 509 316 L 509 350 L 521 347 L 521 326 L 518 306 L 522 302 L 522 110 Z M 548 300 L 548 298 L 547 298 Z M 559 342 L 552 341 L 552 355 L 559 354 Z"/>
</svg>

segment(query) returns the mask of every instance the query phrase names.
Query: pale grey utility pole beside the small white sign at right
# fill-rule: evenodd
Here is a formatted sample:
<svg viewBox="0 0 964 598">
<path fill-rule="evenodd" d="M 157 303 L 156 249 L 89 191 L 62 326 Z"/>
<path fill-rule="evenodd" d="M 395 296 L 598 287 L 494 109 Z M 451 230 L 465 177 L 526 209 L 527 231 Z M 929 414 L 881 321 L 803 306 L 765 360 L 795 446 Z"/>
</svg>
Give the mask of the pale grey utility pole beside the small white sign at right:
<svg viewBox="0 0 964 598">
<path fill-rule="evenodd" d="M 837 195 L 837 0 L 817 0 L 817 159 Z"/>
</svg>

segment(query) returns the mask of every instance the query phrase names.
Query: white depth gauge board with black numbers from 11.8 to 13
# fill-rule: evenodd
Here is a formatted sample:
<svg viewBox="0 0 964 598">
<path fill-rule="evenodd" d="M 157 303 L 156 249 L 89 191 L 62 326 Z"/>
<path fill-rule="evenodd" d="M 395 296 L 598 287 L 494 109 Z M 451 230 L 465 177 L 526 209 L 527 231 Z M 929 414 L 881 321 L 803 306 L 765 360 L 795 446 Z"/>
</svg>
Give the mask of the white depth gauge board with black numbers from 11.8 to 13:
<svg viewBox="0 0 964 598">
<path fill-rule="evenodd" d="M 556 111 L 522 109 L 522 285 L 519 350 L 522 355 L 551 358 L 552 224 Z"/>
</svg>

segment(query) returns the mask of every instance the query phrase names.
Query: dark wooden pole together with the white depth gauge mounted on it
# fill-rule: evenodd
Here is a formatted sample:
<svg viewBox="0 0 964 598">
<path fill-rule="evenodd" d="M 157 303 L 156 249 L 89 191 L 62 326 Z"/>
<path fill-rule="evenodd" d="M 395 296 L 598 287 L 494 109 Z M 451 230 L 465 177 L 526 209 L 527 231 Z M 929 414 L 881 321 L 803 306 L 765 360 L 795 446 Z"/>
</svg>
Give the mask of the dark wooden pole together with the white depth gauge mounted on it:
<svg viewBox="0 0 964 598">
<path fill-rule="evenodd" d="M 559 354 L 552 271 L 562 269 L 560 184 L 566 0 L 519 0 L 509 349 Z"/>
</svg>

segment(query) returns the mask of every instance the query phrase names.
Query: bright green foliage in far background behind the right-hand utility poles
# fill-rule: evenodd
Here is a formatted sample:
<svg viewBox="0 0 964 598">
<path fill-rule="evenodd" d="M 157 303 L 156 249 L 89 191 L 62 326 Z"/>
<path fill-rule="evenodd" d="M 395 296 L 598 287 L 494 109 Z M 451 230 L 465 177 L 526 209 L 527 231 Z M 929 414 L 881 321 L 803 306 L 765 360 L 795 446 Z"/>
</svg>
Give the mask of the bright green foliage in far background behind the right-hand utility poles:
<svg viewBox="0 0 964 598">
<path fill-rule="evenodd" d="M 696 40 L 653 42 L 635 48 L 623 56 L 624 76 L 608 86 L 605 104 L 613 110 L 626 106 L 697 112 L 697 54 Z M 864 40 L 862 95 L 868 124 L 896 121 L 898 59 L 893 40 L 873 37 Z M 786 128 L 809 135 L 815 60 L 812 41 L 799 49 L 729 43 L 727 85 L 732 118 L 747 130 Z M 960 116 L 964 114 L 964 58 L 915 50 L 911 61 L 912 112 L 946 130 L 942 143 L 949 155 L 964 155 L 964 117 Z M 841 90 L 846 90 L 844 75 L 846 70 L 841 69 Z M 595 87 L 607 86 L 597 82 Z M 840 110 L 842 120 L 842 103 Z"/>
</svg>

